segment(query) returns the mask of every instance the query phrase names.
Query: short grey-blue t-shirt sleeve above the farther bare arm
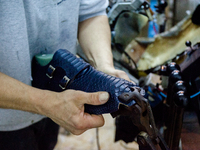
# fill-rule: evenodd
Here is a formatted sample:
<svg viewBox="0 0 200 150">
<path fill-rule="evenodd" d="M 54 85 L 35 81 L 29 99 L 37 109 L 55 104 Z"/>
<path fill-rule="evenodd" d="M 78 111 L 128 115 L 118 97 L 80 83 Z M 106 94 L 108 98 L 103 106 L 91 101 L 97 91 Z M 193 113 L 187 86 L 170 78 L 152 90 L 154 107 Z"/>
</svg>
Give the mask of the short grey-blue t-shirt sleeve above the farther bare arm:
<svg viewBox="0 0 200 150">
<path fill-rule="evenodd" d="M 79 22 L 94 16 L 107 15 L 108 0 L 81 0 Z"/>
</svg>

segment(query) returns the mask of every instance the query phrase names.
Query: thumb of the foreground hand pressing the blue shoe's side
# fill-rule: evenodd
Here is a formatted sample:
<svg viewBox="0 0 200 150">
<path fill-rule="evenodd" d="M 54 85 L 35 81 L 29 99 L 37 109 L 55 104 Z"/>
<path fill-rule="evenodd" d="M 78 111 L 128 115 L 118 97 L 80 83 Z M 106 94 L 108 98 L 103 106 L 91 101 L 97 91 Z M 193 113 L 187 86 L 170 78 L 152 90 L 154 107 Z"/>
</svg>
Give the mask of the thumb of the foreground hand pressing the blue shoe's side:
<svg viewBox="0 0 200 150">
<path fill-rule="evenodd" d="M 101 105 L 104 104 L 108 101 L 109 99 L 109 94 L 108 92 L 95 92 L 95 93 L 88 93 L 89 97 L 86 99 L 86 104 L 91 104 L 91 105 Z"/>
</svg>

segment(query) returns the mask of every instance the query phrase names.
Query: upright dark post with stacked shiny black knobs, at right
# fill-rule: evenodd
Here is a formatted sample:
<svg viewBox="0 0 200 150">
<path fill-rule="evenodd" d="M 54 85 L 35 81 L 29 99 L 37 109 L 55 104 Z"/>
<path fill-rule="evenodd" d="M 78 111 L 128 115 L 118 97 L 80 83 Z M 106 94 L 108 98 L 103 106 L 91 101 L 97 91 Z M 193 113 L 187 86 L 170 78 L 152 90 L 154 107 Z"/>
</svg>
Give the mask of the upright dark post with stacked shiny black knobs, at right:
<svg viewBox="0 0 200 150">
<path fill-rule="evenodd" d="M 166 119 L 164 139 L 170 149 L 178 150 L 181 137 L 184 107 L 188 104 L 187 85 L 182 81 L 182 73 L 172 64 L 166 99 Z"/>
</svg>

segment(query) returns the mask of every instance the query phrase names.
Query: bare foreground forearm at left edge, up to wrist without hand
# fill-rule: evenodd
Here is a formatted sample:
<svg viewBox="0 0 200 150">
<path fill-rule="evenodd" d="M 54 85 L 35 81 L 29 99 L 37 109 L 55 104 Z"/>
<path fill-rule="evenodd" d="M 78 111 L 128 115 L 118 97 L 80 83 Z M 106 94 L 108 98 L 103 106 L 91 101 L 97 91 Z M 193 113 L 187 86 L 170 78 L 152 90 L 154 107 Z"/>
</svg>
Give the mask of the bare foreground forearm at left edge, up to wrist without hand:
<svg viewBox="0 0 200 150">
<path fill-rule="evenodd" d="M 0 107 L 40 113 L 48 91 L 28 86 L 0 72 Z M 44 115 L 44 114 L 43 114 Z"/>
</svg>

